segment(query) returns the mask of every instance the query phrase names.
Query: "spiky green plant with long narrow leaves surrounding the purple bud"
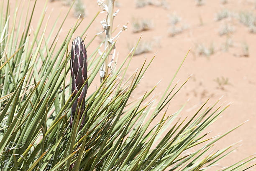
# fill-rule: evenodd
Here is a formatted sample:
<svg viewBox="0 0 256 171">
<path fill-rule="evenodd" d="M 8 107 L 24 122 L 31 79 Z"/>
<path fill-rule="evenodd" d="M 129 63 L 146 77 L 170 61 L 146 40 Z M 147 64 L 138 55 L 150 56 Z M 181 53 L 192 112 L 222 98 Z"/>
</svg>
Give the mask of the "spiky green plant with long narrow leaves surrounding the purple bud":
<svg viewBox="0 0 256 171">
<path fill-rule="evenodd" d="M 157 103 L 148 100 L 156 86 L 137 101 L 129 101 L 131 93 L 136 90 L 154 59 L 153 57 L 148 63 L 145 61 L 130 78 L 124 79 L 139 41 L 120 66 L 111 70 L 100 86 L 85 98 L 87 88 L 90 88 L 105 60 L 111 55 L 115 42 L 104 53 L 97 53 L 99 45 L 87 56 L 85 48 L 91 48 L 93 39 L 85 39 L 89 43 L 84 46 L 81 38 L 88 31 L 89 24 L 80 34 L 81 38 L 74 39 L 70 54 L 68 45 L 82 20 L 77 20 L 64 40 L 57 42 L 57 35 L 53 35 L 53 30 L 59 32 L 65 20 L 57 28 L 56 22 L 59 19 L 56 18 L 55 24 L 50 28 L 51 34 L 44 35 L 48 29 L 47 25 L 42 24 L 45 6 L 34 34 L 28 34 L 33 12 L 38 10 L 35 9 L 36 1 L 33 3 L 33 10 L 26 11 L 30 15 L 24 31 L 20 29 L 23 25 L 20 18 L 26 13 L 18 16 L 21 11 L 17 8 L 11 23 L 8 17 L 9 1 L 1 1 L 0 4 L 2 170 L 201 170 L 215 166 L 235 149 L 235 145 L 231 145 L 219 151 L 211 150 L 216 141 L 243 123 L 218 137 L 206 138 L 208 133 L 203 134 L 226 107 L 216 107 L 218 103 L 206 107 L 205 102 L 192 118 L 183 121 L 176 119 L 183 107 L 174 114 L 164 110 L 184 85 L 172 85 L 182 64 Z M 99 12 L 92 22 L 98 14 Z M 11 27 L 17 21 L 18 29 Z M 44 30 L 39 34 L 41 29 Z M 76 50 L 76 45 L 80 45 L 79 50 Z M 83 73 L 86 57 L 87 69 L 91 70 L 88 78 Z M 76 59 L 83 60 L 78 62 L 78 67 Z M 69 60 L 71 63 L 67 62 Z M 69 75 L 69 69 L 73 76 Z M 79 75 L 79 70 L 82 75 Z M 74 84 L 68 83 L 66 77 L 72 77 Z M 77 80 L 78 78 L 82 79 Z M 74 93 L 71 89 L 75 89 Z M 151 110 L 153 107 L 154 110 Z M 152 121 L 159 115 L 161 120 L 157 121 L 154 128 L 150 128 Z M 81 116 L 86 122 L 79 129 L 83 122 Z M 72 120 L 70 129 L 69 122 Z M 188 153 L 192 148 L 197 150 Z M 222 170 L 251 168 L 253 165 L 248 164 L 253 159 L 255 156 L 250 156 Z"/>
</svg>

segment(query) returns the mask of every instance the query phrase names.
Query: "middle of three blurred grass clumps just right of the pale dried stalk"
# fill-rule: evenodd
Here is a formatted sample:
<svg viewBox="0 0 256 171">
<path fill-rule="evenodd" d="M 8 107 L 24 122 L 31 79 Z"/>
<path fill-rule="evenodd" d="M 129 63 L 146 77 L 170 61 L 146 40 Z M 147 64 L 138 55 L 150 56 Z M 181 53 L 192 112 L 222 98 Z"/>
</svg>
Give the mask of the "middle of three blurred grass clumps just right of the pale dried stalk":
<svg viewBox="0 0 256 171">
<path fill-rule="evenodd" d="M 134 19 L 133 33 L 147 31 L 153 28 L 153 22 L 150 19 Z"/>
</svg>

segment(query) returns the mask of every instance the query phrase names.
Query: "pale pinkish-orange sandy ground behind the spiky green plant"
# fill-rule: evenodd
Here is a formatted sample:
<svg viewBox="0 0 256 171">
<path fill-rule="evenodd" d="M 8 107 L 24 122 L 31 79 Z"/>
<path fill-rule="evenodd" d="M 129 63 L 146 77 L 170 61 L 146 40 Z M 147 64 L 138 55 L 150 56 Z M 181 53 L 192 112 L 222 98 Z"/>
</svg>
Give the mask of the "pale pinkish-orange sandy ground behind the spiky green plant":
<svg viewBox="0 0 256 171">
<path fill-rule="evenodd" d="M 14 0 L 11 0 L 14 2 Z M 33 2 L 33 0 L 31 1 Z M 96 0 L 83 0 L 86 5 L 87 16 L 84 18 L 81 27 L 74 35 L 79 35 L 87 26 L 93 16 L 100 8 Z M 148 19 L 153 23 L 153 28 L 144 31 L 142 41 L 153 43 L 150 52 L 136 55 L 131 63 L 127 75 L 131 75 L 136 68 L 140 67 L 147 58 L 150 60 L 157 52 L 156 58 L 148 68 L 143 81 L 137 88 L 133 98 L 142 96 L 145 90 L 149 90 L 161 80 L 155 91 L 155 97 L 160 98 L 169 81 L 172 79 L 182 59 L 190 49 L 190 53 L 184 62 L 180 72 L 174 81 L 182 83 L 193 74 L 188 83 L 182 88 L 177 96 L 171 101 L 169 114 L 177 111 L 187 99 L 190 99 L 184 108 L 182 115 L 191 116 L 210 98 L 210 104 L 215 103 L 221 96 L 220 101 L 224 106 L 229 102 L 232 105 L 223 112 L 222 118 L 216 121 L 207 131 L 212 130 L 210 136 L 216 136 L 234 128 L 240 123 L 249 120 L 246 124 L 230 133 L 220 142 L 215 144 L 216 149 L 224 148 L 232 143 L 242 140 L 241 146 L 227 158 L 220 162 L 217 168 L 230 165 L 241 158 L 245 158 L 256 152 L 256 34 L 249 33 L 248 27 L 241 24 L 236 16 L 226 18 L 221 21 L 215 21 L 215 15 L 220 10 L 227 9 L 230 13 L 238 14 L 242 11 L 256 14 L 253 0 L 228 0 L 223 5 L 219 0 L 205 0 L 205 4 L 197 6 L 195 0 L 166 0 L 169 8 L 161 6 L 146 5 L 143 8 L 136 8 L 133 0 L 118 0 L 120 12 L 115 17 L 114 25 L 119 28 L 128 21 L 128 30 L 121 34 L 117 43 L 119 52 L 118 61 L 122 61 L 129 52 L 128 45 L 135 44 L 142 32 L 133 33 L 133 21 Z M 44 0 L 38 0 L 37 8 L 42 9 Z M 68 10 L 67 6 L 62 5 L 61 1 L 49 2 L 46 16 L 51 13 L 49 28 L 46 35 L 49 34 L 55 18 L 61 12 L 58 24 L 64 19 L 64 14 Z M 13 7 L 12 7 L 13 8 Z M 52 10 L 53 9 L 53 10 Z M 32 25 L 36 27 L 38 18 L 41 15 L 40 10 L 36 10 Z M 60 40 L 64 38 L 65 33 L 76 22 L 72 15 L 67 17 L 64 28 L 61 32 Z M 187 25 L 187 30 L 175 35 L 169 36 L 169 15 L 176 13 L 182 19 L 177 27 Z M 105 18 L 105 13 L 100 14 L 87 32 L 86 40 L 89 41 L 95 33 L 102 28 L 100 20 Z M 225 23 L 233 27 L 233 33 L 229 35 L 219 35 L 220 28 Z M 83 26 L 84 25 L 84 26 Z M 62 36 L 63 35 L 63 36 Z M 227 40 L 232 42 L 232 46 L 224 51 Z M 92 53 L 100 42 L 100 38 L 90 45 L 87 49 L 88 54 Z M 204 44 L 206 47 L 212 45 L 215 53 L 209 56 L 197 53 L 198 45 Z M 226 43 L 227 44 L 227 43 Z M 248 47 L 248 57 L 244 56 L 243 46 Z M 217 79 L 225 78 L 228 83 L 219 85 Z M 91 88 L 96 87 L 94 83 Z"/>
</svg>

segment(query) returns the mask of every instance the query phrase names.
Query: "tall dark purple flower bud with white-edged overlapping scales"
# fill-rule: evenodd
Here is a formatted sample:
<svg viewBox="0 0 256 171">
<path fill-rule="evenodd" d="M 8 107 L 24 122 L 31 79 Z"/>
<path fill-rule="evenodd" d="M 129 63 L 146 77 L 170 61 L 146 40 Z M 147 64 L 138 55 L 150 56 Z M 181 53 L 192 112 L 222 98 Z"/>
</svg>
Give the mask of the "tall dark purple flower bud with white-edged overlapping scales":
<svg viewBox="0 0 256 171">
<path fill-rule="evenodd" d="M 79 36 L 73 40 L 72 50 L 71 50 L 71 59 L 70 59 L 70 72 L 72 77 L 72 100 L 74 96 L 77 95 L 78 91 L 84 84 L 87 79 L 87 51 L 85 49 L 84 41 Z M 70 128 L 72 128 L 74 115 L 76 108 L 78 106 L 78 111 L 80 110 L 80 119 L 85 109 L 85 95 L 87 93 L 88 84 L 84 85 L 82 92 L 75 100 L 71 108 L 71 118 L 70 118 Z M 82 106 L 81 106 L 82 103 Z M 81 106 L 81 108 L 80 108 Z M 85 115 L 84 115 L 85 116 Z M 85 117 L 84 117 L 85 118 Z M 84 118 L 82 125 L 84 124 Z"/>
</svg>

